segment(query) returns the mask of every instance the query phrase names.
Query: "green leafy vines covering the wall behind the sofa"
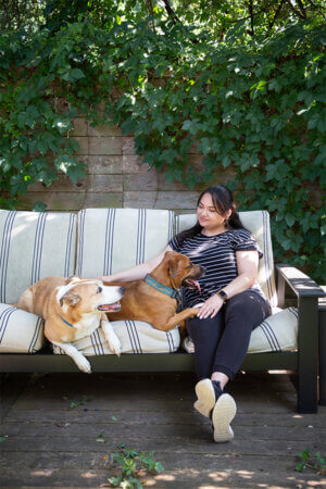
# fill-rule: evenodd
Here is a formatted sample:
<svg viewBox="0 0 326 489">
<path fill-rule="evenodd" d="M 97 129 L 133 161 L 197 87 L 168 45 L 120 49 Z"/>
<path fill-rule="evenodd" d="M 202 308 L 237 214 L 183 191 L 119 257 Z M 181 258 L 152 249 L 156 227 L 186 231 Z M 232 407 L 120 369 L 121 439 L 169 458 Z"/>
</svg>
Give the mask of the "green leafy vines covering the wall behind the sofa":
<svg viewBox="0 0 326 489">
<path fill-rule="evenodd" d="M 110 120 L 170 180 L 192 188 L 233 165 L 241 209 L 272 214 L 278 261 L 325 279 L 325 209 L 312 199 L 325 188 L 326 158 L 318 2 L 299 2 L 301 16 L 263 1 L 256 14 L 244 1 L 36 3 L 24 25 L 14 12 L 0 16 L 1 208 L 60 172 L 85 176 L 72 120 Z M 188 161 L 192 145 L 201 174 Z"/>
</svg>

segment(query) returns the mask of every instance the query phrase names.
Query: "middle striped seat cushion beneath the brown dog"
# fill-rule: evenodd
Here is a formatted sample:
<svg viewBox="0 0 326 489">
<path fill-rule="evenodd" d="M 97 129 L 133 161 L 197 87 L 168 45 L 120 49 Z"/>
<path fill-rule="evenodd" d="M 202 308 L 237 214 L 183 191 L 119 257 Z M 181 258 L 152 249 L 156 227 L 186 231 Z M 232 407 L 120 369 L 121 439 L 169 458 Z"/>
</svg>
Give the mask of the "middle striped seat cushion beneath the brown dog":
<svg viewBox="0 0 326 489">
<path fill-rule="evenodd" d="M 178 328 L 160 331 L 141 321 L 114 321 L 111 323 L 122 344 L 122 353 L 173 353 L 180 344 Z M 101 328 L 73 344 L 85 355 L 112 354 Z M 62 350 L 54 350 L 63 353 Z"/>
</svg>

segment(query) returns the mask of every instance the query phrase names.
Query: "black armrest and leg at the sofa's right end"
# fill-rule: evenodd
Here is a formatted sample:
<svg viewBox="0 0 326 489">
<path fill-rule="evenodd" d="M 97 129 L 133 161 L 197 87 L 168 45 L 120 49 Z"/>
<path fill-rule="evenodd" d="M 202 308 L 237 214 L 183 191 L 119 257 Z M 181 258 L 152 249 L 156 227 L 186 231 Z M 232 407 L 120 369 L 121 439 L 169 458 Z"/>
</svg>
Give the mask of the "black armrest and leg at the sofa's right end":
<svg viewBox="0 0 326 489">
<path fill-rule="evenodd" d="M 308 275 L 293 266 L 276 265 L 278 305 L 285 304 L 286 284 L 298 303 L 298 396 L 299 413 L 316 412 L 318 375 L 318 298 L 324 290 Z"/>
</svg>

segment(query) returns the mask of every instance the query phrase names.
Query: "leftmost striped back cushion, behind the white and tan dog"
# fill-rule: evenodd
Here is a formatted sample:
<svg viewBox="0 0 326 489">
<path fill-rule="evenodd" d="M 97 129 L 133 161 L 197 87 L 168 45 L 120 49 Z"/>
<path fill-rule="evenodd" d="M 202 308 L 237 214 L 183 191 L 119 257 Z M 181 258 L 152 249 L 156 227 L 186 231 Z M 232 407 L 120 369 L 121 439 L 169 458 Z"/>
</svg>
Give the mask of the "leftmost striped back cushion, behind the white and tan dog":
<svg viewBox="0 0 326 489">
<path fill-rule="evenodd" d="M 75 243 L 75 214 L 0 210 L 0 302 L 16 302 L 41 278 L 72 275 Z"/>
</svg>

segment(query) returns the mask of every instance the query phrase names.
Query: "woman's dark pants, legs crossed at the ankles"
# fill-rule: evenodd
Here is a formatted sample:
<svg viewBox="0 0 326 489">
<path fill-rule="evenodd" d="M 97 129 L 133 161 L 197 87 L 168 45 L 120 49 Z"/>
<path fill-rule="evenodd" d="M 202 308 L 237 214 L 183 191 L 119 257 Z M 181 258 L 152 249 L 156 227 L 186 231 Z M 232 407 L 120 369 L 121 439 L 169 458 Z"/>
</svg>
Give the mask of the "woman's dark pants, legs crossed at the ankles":
<svg viewBox="0 0 326 489">
<path fill-rule="evenodd" d="M 226 301 L 215 317 L 188 319 L 199 379 L 222 372 L 231 380 L 246 356 L 251 331 L 268 315 L 268 302 L 246 290 Z"/>
</svg>

